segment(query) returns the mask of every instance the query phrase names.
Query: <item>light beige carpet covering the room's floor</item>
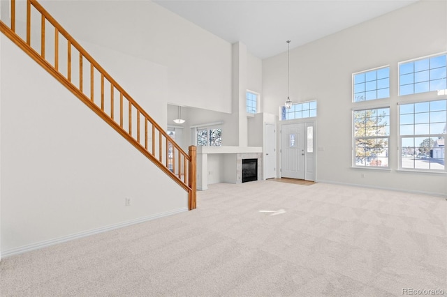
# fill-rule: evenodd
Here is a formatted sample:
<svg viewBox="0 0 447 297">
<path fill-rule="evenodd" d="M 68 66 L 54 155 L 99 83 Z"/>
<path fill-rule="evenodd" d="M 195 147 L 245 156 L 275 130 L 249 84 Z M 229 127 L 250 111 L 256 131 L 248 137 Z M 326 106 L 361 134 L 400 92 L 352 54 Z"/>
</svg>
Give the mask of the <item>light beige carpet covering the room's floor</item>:
<svg viewBox="0 0 447 297">
<path fill-rule="evenodd" d="M 325 183 L 209 188 L 195 211 L 3 259 L 0 296 L 446 294 L 442 197 Z"/>
</svg>

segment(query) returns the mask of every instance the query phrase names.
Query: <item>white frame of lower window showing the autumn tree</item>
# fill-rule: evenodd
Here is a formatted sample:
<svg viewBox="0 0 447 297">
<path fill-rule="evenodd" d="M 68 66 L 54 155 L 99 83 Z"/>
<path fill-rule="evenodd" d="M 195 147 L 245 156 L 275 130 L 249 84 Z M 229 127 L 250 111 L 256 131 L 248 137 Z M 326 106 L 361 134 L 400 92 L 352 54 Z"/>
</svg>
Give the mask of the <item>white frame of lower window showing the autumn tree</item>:
<svg viewBox="0 0 447 297">
<path fill-rule="evenodd" d="M 365 136 L 365 137 L 356 137 L 356 123 L 355 123 L 355 112 L 362 112 L 367 110 L 374 110 L 374 109 L 388 109 L 388 135 L 376 135 L 376 136 Z M 390 106 L 389 105 L 382 105 L 379 107 L 363 107 L 363 108 L 356 108 L 352 109 L 352 167 L 353 168 L 360 168 L 360 169 L 380 169 L 380 170 L 389 170 L 390 169 L 390 137 L 391 137 L 391 130 L 390 130 Z M 388 146 L 387 146 L 387 153 L 386 158 L 388 158 L 388 164 L 387 166 L 379 166 L 379 165 L 357 165 L 356 164 L 356 144 L 358 139 L 388 139 Z M 378 160 L 379 157 L 376 157 L 376 162 L 379 162 L 381 160 Z M 376 163 L 378 164 L 378 163 Z"/>
</svg>

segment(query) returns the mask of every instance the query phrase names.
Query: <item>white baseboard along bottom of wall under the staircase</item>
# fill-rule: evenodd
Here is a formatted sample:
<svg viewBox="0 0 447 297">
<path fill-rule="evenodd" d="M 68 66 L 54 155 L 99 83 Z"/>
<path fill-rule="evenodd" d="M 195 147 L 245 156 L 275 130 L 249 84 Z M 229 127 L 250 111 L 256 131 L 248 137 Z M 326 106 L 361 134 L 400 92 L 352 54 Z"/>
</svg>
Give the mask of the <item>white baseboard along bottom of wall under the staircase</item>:
<svg viewBox="0 0 447 297">
<path fill-rule="evenodd" d="M 47 241 L 41 241 L 38 243 L 33 243 L 31 245 L 23 245 L 20 248 L 13 248 L 10 250 L 5 250 L 1 252 L 1 259 L 4 259 L 6 257 L 10 257 L 10 256 L 14 256 L 16 254 L 23 254 L 25 252 L 31 252 L 32 250 L 40 250 L 42 248 L 47 248 L 51 245 L 57 245 L 59 243 L 65 243 L 67 241 L 73 241 L 74 239 L 78 239 L 78 238 L 82 238 L 82 237 L 86 237 L 86 236 L 91 236 L 91 235 L 95 235 L 95 234 L 100 234 L 106 231 L 111 231 L 111 230 L 115 230 L 115 229 L 119 229 L 119 228 L 123 228 L 123 227 L 127 227 L 130 226 L 132 224 L 138 224 L 140 222 L 147 222 L 149 220 L 155 220 L 158 218 L 163 218 L 166 217 L 168 215 L 175 215 L 177 213 L 183 213 L 185 211 L 188 211 L 187 207 L 182 207 L 182 208 L 177 208 L 177 209 L 173 209 L 171 211 L 166 211 L 163 213 L 156 213 L 154 215 L 149 215 L 147 217 L 143 217 L 143 218 L 138 218 L 135 220 L 129 220 L 126 222 L 121 222 L 118 224 L 111 224 L 105 227 L 101 227 L 101 228 L 97 228 L 97 229 L 91 229 L 89 231 L 83 231 L 80 233 L 76 233 L 76 234 L 71 234 L 68 236 L 62 236 L 59 238 L 54 238 L 54 239 L 50 239 Z"/>
</svg>

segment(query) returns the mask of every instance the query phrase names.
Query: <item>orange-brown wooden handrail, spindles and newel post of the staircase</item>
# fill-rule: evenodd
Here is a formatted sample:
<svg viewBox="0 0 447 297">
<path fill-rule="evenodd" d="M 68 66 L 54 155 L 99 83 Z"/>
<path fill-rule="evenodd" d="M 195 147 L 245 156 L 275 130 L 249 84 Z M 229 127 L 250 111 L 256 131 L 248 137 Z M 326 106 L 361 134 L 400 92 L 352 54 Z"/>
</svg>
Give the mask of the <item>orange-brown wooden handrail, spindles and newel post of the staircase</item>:
<svg viewBox="0 0 447 297">
<path fill-rule="evenodd" d="M 41 13 L 41 46 L 40 53 L 31 45 L 31 7 L 36 8 L 36 10 Z M 107 122 L 112 128 L 114 128 L 120 135 L 122 135 L 125 139 L 127 139 L 135 148 L 137 148 L 143 155 L 145 155 L 149 160 L 154 162 L 154 164 L 159 167 L 163 172 L 168 174 L 170 178 L 173 178 L 175 182 L 177 182 L 184 190 L 189 193 L 189 209 L 196 208 L 196 154 L 195 147 L 192 150 L 189 148 L 189 153 L 186 153 L 182 150 L 182 148 L 170 138 L 168 133 L 166 133 L 161 126 L 152 119 L 147 112 L 145 112 L 140 105 L 127 93 L 122 86 L 120 86 L 115 79 L 113 79 L 109 73 L 107 73 L 99 63 L 93 59 L 87 51 L 81 47 L 81 45 L 57 22 L 54 20 L 47 11 L 39 4 L 36 0 L 27 0 L 27 8 L 26 8 L 26 22 L 27 22 L 27 31 L 26 31 L 26 41 L 23 40 L 17 33 L 15 33 L 15 22 L 17 20 L 16 13 L 17 9 L 15 7 L 15 0 L 10 0 L 10 27 L 8 27 L 3 21 L 0 21 L 0 30 L 3 34 L 5 34 L 10 40 L 12 40 L 18 47 L 20 47 L 24 52 L 26 52 L 32 59 L 34 59 L 38 64 L 40 64 L 48 73 L 50 73 L 54 78 L 56 78 L 61 84 L 66 86 L 66 88 L 71 91 L 75 96 L 77 96 L 82 102 L 87 105 L 91 110 L 93 110 L 98 116 L 101 117 L 105 122 Z M 54 64 L 45 59 L 45 31 L 46 26 L 45 22 L 49 22 L 52 26 L 54 26 Z M 66 76 L 59 71 L 59 37 L 65 38 L 67 42 L 67 73 Z M 61 40 L 64 41 L 64 40 Z M 79 84 L 76 86 L 72 82 L 72 47 L 79 52 Z M 62 55 L 64 56 L 64 55 Z M 84 59 L 90 63 L 89 75 L 90 79 L 84 79 L 83 71 Z M 99 73 L 101 75 L 101 79 L 94 79 L 94 74 Z M 99 81 L 99 82 L 98 82 Z M 89 86 L 89 96 L 84 93 L 85 82 L 87 82 L 86 88 Z M 110 114 L 105 111 L 105 82 L 110 83 Z M 100 98 L 96 98 L 95 95 L 95 84 L 100 84 L 97 90 L 100 90 Z M 115 90 L 119 93 L 119 119 L 115 120 Z M 95 101 L 100 101 L 99 105 Z M 127 108 L 128 113 L 126 117 L 124 115 L 124 100 L 127 100 Z M 136 116 L 133 118 L 133 111 L 136 111 Z M 142 117 L 144 121 L 144 144 L 141 144 L 140 133 L 142 125 L 140 121 L 140 117 Z M 124 119 L 127 121 L 127 127 L 124 127 Z M 136 121 L 135 128 L 133 128 L 133 122 Z M 152 130 L 147 128 L 148 123 L 152 125 Z M 136 137 L 134 136 L 136 131 Z M 156 154 L 156 134 L 158 133 L 158 156 Z M 148 144 L 148 136 L 152 136 L 150 138 L 152 140 L 152 146 Z M 163 137 L 165 142 L 163 142 Z M 163 146 L 166 146 L 166 150 L 164 150 L 163 154 Z M 152 148 L 149 151 L 149 148 Z M 168 148 L 172 149 L 172 156 L 169 156 Z M 176 154 L 177 153 L 177 154 Z M 175 159 L 178 158 L 176 161 Z M 166 162 L 163 163 L 163 160 Z M 181 164 L 184 162 L 184 167 L 182 168 Z M 171 168 L 168 168 L 168 167 Z M 186 170 L 188 168 L 188 170 Z M 183 173 L 182 173 L 183 169 Z M 172 170 L 172 172 L 171 172 Z M 183 176 L 183 179 L 182 179 Z"/>
</svg>

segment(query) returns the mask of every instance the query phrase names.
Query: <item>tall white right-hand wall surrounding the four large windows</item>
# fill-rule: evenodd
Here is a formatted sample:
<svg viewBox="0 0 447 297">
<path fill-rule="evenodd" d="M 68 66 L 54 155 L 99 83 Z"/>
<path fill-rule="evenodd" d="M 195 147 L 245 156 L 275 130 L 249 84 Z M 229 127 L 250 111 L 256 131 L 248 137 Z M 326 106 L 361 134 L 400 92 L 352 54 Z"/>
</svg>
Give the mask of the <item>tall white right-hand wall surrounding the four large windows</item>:
<svg viewBox="0 0 447 297">
<path fill-rule="evenodd" d="M 369 22 L 291 50 L 291 99 L 318 102 L 317 180 L 378 188 L 447 194 L 441 174 L 396 172 L 397 63 L 447 50 L 447 2 L 418 1 Z M 390 65 L 390 99 L 353 104 L 351 75 Z M 287 96 L 286 53 L 263 60 L 263 107 L 278 114 Z M 441 98 L 432 94 L 429 98 Z M 444 98 L 446 98 L 444 96 Z M 390 106 L 390 172 L 351 169 L 353 107 Z M 361 175 L 365 174 L 365 178 Z"/>
</svg>

